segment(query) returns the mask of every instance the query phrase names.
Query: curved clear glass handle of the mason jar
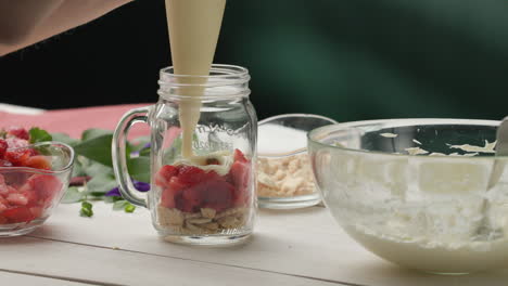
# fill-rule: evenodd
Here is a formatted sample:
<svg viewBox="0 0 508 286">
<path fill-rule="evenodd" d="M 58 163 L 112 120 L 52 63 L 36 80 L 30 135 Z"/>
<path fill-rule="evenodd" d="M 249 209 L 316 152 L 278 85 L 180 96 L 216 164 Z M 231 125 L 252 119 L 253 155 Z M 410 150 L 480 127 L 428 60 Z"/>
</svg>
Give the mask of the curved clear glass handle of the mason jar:
<svg viewBox="0 0 508 286">
<path fill-rule="evenodd" d="M 130 180 L 129 170 L 127 168 L 126 145 L 127 134 L 130 128 L 136 123 L 148 123 L 147 114 L 150 107 L 141 107 L 127 112 L 122 117 L 118 126 L 113 134 L 112 156 L 113 170 L 115 171 L 116 182 L 119 184 L 122 196 L 134 205 L 147 207 L 147 200 L 135 195 L 136 187 Z"/>
</svg>

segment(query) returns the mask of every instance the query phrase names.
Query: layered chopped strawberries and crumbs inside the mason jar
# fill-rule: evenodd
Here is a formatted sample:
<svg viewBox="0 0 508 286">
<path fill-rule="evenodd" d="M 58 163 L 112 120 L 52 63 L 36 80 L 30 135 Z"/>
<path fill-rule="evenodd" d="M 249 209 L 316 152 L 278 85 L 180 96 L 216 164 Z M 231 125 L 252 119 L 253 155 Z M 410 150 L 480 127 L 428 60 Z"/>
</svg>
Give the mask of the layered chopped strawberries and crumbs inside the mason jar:
<svg viewBox="0 0 508 286">
<path fill-rule="evenodd" d="M 163 166 L 154 176 L 161 200 L 157 219 L 175 232 L 219 233 L 241 227 L 253 208 L 252 162 L 236 150 Z M 227 157 L 226 157 L 227 156 Z"/>
</svg>

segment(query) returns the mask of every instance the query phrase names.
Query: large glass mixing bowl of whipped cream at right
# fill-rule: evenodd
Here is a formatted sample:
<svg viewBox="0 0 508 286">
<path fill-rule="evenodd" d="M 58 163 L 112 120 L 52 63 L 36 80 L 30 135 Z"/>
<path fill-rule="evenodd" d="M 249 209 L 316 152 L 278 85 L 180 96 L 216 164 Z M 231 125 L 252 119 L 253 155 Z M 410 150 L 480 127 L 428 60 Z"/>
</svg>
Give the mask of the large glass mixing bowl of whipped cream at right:
<svg viewBox="0 0 508 286">
<path fill-rule="evenodd" d="M 498 121 L 388 119 L 308 133 L 319 192 L 358 244 L 405 268 L 508 265 L 508 157 Z"/>
</svg>

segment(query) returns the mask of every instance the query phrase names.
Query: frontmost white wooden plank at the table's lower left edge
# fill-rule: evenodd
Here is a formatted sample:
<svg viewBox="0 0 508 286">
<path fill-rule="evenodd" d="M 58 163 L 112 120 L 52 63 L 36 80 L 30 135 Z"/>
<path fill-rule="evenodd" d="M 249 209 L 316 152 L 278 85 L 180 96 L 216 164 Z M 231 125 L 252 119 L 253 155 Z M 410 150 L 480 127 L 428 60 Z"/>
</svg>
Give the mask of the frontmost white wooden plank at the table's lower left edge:
<svg viewBox="0 0 508 286">
<path fill-rule="evenodd" d="M 97 285 L 338 285 L 252 269 L 34 237 L 4 239 L 0 244 L 0 253 L 8 258 L 0 260 L 0 269 L 7 271 Z"/>
</svg>

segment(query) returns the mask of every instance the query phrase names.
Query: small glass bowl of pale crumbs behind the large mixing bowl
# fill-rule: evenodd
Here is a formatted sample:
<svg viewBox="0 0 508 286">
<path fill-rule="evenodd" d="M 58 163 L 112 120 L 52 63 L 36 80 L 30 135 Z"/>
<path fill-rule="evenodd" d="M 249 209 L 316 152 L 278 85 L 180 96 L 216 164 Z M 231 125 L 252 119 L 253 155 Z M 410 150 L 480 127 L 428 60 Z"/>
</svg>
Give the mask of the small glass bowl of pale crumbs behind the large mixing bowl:
<svg viewBox="0 0 508 286">
<path fill-rule="evenodd" d="M 336 123 L 312 114 L 284 114 L 258 125 L 257 202 L 261 208 L 295 209 L 321 202 L 307 155 L 307 132 Z"/>
</svg>

